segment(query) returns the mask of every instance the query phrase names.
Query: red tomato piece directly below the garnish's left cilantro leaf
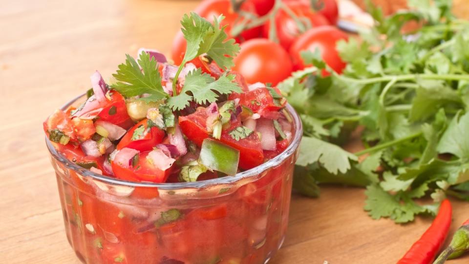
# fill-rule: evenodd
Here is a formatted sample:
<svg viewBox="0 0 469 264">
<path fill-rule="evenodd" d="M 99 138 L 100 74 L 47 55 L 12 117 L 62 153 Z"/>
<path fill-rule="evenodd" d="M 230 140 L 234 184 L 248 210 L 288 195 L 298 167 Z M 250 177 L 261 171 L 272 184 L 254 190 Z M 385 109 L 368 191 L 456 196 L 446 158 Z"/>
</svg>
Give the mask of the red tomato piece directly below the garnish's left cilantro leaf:
<svg viewBox="0 0 469 264">
<path fill-rule="evenodd" d="M 111 100 L 107 100 L 106 106 L 101 110 L 98 116 L 101 120 L 121 125 L 130 120 L 127 113 L 126 99 L 122 94 L 115 90 L 109 91 Z"/>
</svg>

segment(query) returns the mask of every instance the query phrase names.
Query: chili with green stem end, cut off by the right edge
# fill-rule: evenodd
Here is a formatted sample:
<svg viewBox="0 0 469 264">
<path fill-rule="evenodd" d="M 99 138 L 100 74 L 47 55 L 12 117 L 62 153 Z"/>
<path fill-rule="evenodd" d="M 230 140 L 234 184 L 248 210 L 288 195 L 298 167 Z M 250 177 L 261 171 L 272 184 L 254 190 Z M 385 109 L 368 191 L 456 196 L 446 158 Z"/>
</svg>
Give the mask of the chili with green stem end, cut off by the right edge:
<svg viewBox="0 0 469 264">
<path fill-rule="evenodd" d="M 433 264 L 443 264 L 447 259 L 455 259 L 469 250 L 469 219 L 456 230 L 449 246 Z"/>
</svg>

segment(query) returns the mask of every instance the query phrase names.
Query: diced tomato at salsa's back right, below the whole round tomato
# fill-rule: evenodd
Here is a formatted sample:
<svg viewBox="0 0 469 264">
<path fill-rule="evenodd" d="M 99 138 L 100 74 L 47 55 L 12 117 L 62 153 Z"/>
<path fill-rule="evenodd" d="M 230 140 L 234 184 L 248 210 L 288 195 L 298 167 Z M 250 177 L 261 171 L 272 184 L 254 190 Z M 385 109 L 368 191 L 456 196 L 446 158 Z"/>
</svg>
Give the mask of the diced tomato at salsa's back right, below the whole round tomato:
<svg viewBox="0 0 469 264">
<path fill-rule="evenodd" d="M 280 95 L 280 91 L 277 88 L 273 89 Z M 243 93 L 232 93 L 228 98 L 230 100 L 239 98 L 239 104 L 248 107 L 255 113 L 260 110 L 278 111 L 286 104 L 286 101 L 283 105 L 274 102 L 274 98 L 267 88 L 257 88 Z"/>
</svg>

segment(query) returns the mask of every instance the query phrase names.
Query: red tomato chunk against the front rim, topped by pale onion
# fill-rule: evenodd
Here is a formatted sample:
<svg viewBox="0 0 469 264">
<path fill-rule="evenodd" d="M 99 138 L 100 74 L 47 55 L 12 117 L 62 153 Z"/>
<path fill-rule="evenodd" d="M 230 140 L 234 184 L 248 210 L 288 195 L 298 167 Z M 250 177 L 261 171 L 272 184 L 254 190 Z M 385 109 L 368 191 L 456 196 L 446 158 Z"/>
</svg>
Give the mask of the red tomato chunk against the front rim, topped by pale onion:
<svg viewBox="0 0 469 264">
<path fill-rule="evenodd" d="M 138 163 L 132 167 L 125 168 L 120 166 L 115 162 L 111 162 L 112 171 L 115 176 L 120 179 L 129 180 L 129 181 L 149 181 L 149 182 L 165 182 L 168 176 L 170 176 L 172 167 L 166 171 L 162 171 L 156 168 L 153 164 L 147 160 L 147 155 L 149 151 L 142 152 L 139 154 Z M 148 190 L 146 190 L 148 191 Z M 136 194 L 139 196 L 138 194 Z M 144 190 L 141 191 L 140 196 L 148 198 L 150 194 L 145 193 Z M 155 194 L 153 197 L 157 197 Z"/>
</svg>

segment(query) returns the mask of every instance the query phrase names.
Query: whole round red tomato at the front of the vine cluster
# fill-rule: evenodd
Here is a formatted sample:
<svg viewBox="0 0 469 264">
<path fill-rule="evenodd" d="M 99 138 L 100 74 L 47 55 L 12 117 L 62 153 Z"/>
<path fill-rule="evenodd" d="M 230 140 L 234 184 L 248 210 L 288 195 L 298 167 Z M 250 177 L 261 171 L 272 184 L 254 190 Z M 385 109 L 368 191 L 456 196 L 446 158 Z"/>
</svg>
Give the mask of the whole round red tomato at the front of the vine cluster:
<svg viewBox="0 0 469 264">
<path fill-rule="evenodd" d="M 277 43 L 267 39 L 252 39 L 241 44 L 233 69 L 246 82 L 272 83 L 274 86 L 290 76 L 292 63 L 288 53 Z"/>
</svg>

